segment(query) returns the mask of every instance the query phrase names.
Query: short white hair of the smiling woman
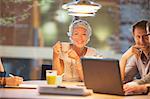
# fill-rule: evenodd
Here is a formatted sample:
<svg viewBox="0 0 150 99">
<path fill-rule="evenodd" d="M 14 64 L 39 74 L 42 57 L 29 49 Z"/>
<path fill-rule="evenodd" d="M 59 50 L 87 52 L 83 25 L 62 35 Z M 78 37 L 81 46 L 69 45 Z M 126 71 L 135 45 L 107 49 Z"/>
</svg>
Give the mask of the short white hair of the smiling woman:
<svg viewBox="0 0 150 99">
<path fill-rule="evenodd" d="M 73 30 L 74 30 L 74 28 L 76 28 L 76 27 L 82 27 L 82 28 L 86 29 L 86 30 L 87 30 L 87 33 L 88 33 L 88 37 L 90 37 L 90 36 L 92 35 L 92 29 L 91 29 L 90 25 L 88 24 L 88 22 L 85 21 L 85 20 L 79 19 L 79 20 L 75 20 L 75 21 L 69 26 L 69 32 L 67 33 L 69 37 L 72 36 Z"/>
</svg>

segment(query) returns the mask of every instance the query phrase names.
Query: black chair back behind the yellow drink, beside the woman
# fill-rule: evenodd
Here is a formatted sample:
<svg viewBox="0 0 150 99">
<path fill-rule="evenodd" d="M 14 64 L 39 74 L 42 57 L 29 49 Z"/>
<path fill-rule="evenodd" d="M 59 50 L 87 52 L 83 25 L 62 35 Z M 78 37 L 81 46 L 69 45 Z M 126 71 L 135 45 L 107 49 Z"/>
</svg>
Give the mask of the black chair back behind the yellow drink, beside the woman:
<svg viewBox="0 0 150 99">
<path fill-rule="evenodd" d="M 52 70 L 52 64 L 42 64 L 41 80 L 46 80 L 46 70 Z"/>
</svg>

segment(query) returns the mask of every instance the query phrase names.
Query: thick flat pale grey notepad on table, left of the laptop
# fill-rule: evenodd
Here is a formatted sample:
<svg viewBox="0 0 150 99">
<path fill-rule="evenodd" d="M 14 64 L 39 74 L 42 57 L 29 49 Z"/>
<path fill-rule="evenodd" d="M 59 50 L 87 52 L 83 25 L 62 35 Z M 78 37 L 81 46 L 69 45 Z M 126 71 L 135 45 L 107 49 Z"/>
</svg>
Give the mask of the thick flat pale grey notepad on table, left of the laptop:
<svg viewBox="0 0 150 99">
<path fill-rule="evenodd" d="M 80 86 L 56 86 L 56 85 L 40 85 L 38 87 L 40 94 L 61 94 L 61 95 L 79 95 L 86 96 L 93 93 L 92 90 Z"/>
</svg>

